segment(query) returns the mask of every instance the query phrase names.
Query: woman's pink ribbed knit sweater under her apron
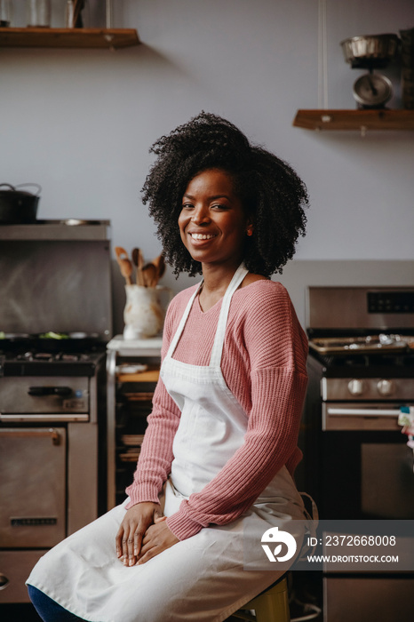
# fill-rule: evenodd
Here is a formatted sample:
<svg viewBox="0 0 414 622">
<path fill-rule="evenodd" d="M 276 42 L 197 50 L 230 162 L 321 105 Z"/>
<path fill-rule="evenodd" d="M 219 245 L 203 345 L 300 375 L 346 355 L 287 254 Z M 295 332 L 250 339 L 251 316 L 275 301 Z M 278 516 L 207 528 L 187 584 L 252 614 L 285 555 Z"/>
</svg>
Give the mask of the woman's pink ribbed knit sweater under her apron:
<svg viewBox="0 0 414 622">
<path fill-rule="evenodd" d="M 163 331 L 162 357 L 195 286 L 171 302 Z M 196 298 L 173 358 L 208 365 L 221 300 L 203 313 Z M 231 301 L 221 369 L 227 387 L 248 416 L 243 445 L 203 490 L 182 501 L 167 524 L 180 540 L 210 523 L 234 521 L 252 505 L 279 469 L 291 474 L 301 451 L 299 420 L 307 389 L 307 337 L 281 283 L 259 280 L 235 291 Z M 171 472 L 172 441 L 179 427 L 179 408 L 160 379 L 134 481 L 126 492 L 131 507 L 158 502 Z"/>
</svg>

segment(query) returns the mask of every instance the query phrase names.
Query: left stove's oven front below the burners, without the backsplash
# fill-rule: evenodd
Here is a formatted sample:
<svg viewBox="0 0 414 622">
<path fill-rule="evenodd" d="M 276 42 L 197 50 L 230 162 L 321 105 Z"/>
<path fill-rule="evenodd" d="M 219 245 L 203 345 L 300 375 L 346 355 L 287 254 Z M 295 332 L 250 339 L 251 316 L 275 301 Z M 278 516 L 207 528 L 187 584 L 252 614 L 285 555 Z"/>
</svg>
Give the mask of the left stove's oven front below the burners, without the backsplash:
<svg viewBox="0 0 414 622">
<path fill-rule="evenodd" d="M 93 376 L 0 378 L 0 602 L 27 601 L 36 559 L 99 513 L 104 355 L 93 358 Z"/>
</svg>

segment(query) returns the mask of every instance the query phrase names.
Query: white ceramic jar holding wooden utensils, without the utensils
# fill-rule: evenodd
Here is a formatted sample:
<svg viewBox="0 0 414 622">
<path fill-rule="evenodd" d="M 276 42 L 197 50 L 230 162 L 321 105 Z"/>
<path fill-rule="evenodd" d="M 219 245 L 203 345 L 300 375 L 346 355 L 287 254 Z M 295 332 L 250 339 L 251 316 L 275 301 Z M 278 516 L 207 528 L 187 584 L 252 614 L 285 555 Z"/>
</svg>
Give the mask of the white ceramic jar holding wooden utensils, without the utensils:
<svg viewBox="0 0 414 622">
<path fill-rule="evenodd" d="M 172 299 L 168 287 L 125 285 L 126 305 L 123 310 L 123 339 L 155 337 L 163 329 L 165 307 Z M 161 298 L 166 298 L 162 304 Z"/>
</svg>

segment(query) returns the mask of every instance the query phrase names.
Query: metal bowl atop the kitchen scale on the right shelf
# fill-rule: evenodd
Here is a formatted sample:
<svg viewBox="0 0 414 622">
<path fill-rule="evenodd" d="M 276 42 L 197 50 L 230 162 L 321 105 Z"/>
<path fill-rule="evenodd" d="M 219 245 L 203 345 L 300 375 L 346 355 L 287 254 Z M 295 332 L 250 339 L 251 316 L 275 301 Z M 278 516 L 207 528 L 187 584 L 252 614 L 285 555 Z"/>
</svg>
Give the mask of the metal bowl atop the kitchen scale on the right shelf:
<svg viewBox="0 0 414 622">
<path fill-rule="evenodd" d="M 397 35 L 351 36 L 341 41 L 346 62 L 353 68 L 385 67 L 398 52 L 400 39 Z"/>
</svg>

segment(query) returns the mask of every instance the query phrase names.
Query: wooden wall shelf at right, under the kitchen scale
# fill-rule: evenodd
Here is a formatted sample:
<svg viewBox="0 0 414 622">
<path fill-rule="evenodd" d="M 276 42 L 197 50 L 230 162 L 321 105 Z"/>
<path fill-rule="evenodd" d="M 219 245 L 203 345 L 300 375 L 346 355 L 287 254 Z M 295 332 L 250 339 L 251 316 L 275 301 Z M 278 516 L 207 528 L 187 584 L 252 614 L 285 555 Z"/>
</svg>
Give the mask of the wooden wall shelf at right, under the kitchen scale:
<svg viewBox="0 0 414 622">
<path fill-rule="evenodd" d="M 305 130 L 414 130 L 414 110 L 298 110 L 295 127 Z"/>
</svg>

